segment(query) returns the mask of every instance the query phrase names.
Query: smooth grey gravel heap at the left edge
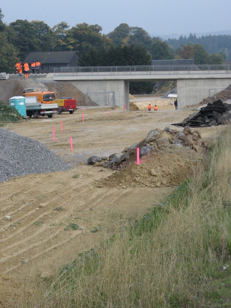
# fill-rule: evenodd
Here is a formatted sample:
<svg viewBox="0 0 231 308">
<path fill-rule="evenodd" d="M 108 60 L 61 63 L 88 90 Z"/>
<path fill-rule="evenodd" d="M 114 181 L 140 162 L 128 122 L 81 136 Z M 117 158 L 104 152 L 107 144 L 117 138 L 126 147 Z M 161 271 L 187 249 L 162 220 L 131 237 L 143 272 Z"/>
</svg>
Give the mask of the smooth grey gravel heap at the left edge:
<svg viewBox="0 0 231 308">
<path fill-rule="evenodd" d="M 36 140 L 0 128 L 0 182 L 29 173 L 66 171 L 71 166 Z"/>
</svg>

